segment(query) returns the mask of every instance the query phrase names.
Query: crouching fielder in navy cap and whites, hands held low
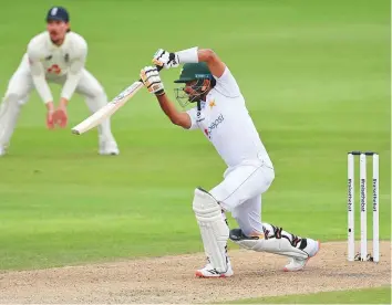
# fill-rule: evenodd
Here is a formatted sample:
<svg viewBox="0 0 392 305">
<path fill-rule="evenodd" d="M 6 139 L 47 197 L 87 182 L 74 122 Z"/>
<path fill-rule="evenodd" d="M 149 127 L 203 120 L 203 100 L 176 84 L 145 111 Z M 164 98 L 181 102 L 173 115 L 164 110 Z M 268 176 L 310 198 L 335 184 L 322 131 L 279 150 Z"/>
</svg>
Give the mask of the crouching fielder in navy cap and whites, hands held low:
<svg viewBox="0 0 392 305">
<path fill-rule="evenodd" d="M 68 11 L 62 7 L 51 8 L 47 15 L 47 31 L 34 36 L 27 53 L 12 75 L 0 106 L 0 156 L 7 152 L 21 107 L 35 87 L 48 108 L 47 126 L 65 127 L 66 105 L 74 92 L 85 98 L 92 113 L 107 103 L 101 84 L 84 69 L 87 56 L 85 40 L 71 32 Z M 54 109 L 53 96 L 48 83 L 62 85 L 59 107 Z M 99 126 L 99 152 L 118 155 L 110 120 Z"/>
</svg>

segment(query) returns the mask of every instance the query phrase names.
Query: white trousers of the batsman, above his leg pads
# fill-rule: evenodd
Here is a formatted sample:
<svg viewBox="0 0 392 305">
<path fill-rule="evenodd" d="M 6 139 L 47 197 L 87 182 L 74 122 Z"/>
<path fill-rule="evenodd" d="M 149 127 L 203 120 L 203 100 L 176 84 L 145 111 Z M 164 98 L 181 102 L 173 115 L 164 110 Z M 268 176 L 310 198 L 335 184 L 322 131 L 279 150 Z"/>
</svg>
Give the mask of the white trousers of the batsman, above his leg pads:
<svg viewBox="0 0 392 305">
<path fill-rule="evenodd" d="M 275 179 L 274 168 L 262 160 L 246 160 L 228 168 L 224 181 L 210 193 L 225 211 L 231 212 L 244 234 L 262 233 L 261 193 Z"/>
</svg>

